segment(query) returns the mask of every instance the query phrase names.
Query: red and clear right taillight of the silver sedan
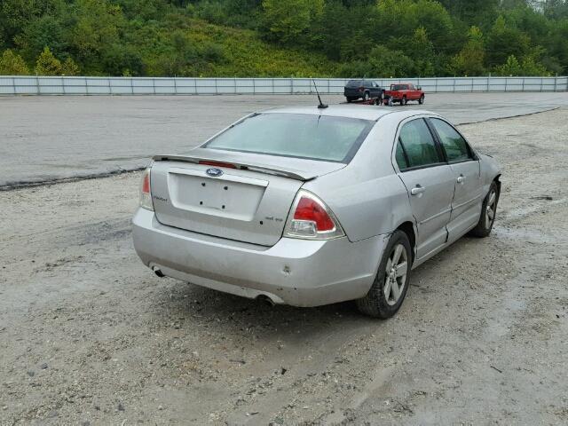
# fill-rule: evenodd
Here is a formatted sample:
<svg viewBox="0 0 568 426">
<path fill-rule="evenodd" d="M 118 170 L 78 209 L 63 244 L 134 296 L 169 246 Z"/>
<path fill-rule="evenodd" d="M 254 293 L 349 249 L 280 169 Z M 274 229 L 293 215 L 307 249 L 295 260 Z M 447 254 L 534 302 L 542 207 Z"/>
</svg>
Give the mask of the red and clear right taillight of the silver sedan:
<svg viewBox="0 0 568 426">
<path fill-rule="evenodd" d="M 284 236 L 307 240 L 343 237 L 343 228 L 334 213 L 313 193 L 300 190 L 292 205 Z"/>
</svg>

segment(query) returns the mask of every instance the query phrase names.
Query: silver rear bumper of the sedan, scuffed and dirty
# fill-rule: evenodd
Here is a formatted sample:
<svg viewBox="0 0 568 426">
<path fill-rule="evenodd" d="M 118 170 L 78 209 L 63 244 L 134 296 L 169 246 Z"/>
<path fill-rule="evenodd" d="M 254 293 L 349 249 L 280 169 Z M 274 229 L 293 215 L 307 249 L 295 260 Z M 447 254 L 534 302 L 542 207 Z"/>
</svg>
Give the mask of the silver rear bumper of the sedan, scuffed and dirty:
<svg viewBox="0 0 568 426">
<path fill-rule="evenodd" d="M 203 287 L 294 306 L 365 296 L 385 245 L 380 235 L 355 243 L 282 238 L 266 248 L 165 226 L 146 209 L 138 209 L 132 225 L 146 266 Z"/>
</svg>

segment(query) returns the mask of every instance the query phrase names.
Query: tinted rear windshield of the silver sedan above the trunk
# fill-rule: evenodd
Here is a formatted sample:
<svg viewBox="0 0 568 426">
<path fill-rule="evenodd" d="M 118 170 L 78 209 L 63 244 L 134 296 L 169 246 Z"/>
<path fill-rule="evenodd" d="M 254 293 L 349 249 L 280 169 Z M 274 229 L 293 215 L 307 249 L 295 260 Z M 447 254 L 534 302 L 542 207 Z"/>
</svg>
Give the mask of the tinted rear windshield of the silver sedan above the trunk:
<svg viewBox="0 0 568 426">
<path fill-rule="evenodd" d="M 350 162 L 374 123 L 312 114 L 256 114 L 225 130 L 203 147 Z"/>
</svg>

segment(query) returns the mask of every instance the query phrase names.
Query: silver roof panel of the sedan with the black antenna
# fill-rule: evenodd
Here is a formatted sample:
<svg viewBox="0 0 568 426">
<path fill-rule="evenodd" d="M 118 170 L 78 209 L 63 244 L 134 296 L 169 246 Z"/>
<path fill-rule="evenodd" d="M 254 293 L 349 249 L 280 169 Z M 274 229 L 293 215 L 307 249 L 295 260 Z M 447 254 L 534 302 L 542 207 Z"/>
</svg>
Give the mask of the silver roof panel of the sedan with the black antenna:
<svg viewBox="0 0 568 426">
<path fill-rule="evenodd" d="M 404 120 L 405 118 L 411 117 L 413 115 L 438 115 L 425 110 L 413 109 L 405 111 L 393 111 L 392 107 L 389 106 L 348 104 L 330 105 L 327 108 L 318 108 L 318 106 L 316 105 L 276 107 L 267 111 L 262 111 L 261 114 L 312 114 L 330 117 L 359 118 L 361 120 L 372 120 L 375 122 L 387 114 L 397 114 L 399 115 L 400 120 Z"/>
</svg>

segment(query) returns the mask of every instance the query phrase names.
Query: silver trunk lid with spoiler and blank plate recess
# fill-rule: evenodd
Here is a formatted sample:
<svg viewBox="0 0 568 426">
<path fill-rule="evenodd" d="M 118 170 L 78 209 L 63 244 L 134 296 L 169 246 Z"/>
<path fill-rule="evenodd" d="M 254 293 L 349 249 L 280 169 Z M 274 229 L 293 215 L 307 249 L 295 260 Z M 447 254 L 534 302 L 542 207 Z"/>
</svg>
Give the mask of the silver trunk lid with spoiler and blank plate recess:
<svg viewBox="0 0 568 426">
<path fill-rule="evenodd" d="M 203 148 L 159 155 L 151 172 L 154 211 L 163 225 L 272 246 L 304 181 L 343 167 Z"/>
</svg>

